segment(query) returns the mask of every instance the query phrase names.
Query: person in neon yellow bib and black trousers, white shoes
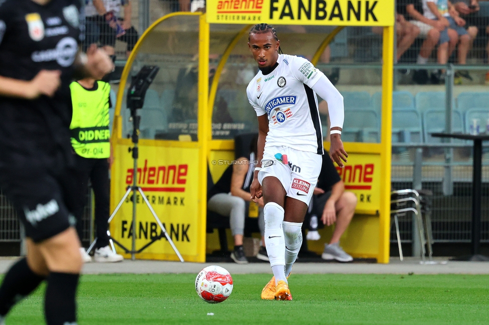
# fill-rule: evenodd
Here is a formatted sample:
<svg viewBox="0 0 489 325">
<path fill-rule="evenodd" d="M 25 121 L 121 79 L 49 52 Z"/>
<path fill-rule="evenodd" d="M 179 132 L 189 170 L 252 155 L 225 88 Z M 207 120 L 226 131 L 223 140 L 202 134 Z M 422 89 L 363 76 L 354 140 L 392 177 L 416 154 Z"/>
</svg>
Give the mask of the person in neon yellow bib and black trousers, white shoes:
<svg viewBox="0 0 489 325">
<path fill-rule="evenodd" d="M 85 78 L 70 84 L 73 116 L 71 144 L 79 176 L 80 191 L 75 209 L 78 236 L 83 238 L 82 214 L 86 202 L 88 180 L 95 194 L 96 238 L 94 259 L 97 262 L 119 262 L 124 259 L 112 251 L 107 234 L 109 219 L 109 168 L 112 162 L 109 130 L 110 84 Z M 80 248 L 83 260 L 92 257 Z"/>
</svg>

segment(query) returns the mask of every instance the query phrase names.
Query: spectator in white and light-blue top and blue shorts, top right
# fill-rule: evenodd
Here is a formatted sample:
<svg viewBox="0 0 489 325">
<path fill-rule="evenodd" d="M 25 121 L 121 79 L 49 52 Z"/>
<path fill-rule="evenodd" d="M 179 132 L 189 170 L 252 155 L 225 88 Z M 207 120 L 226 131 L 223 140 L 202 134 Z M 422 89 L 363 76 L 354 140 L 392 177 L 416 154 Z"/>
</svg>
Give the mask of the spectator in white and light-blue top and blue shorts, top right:
<svg viewBox="0 0 489 325">
<path fill-rule="evenodd" d="M 465 20 L 458 15 L 458 12 L 455 9 L 452 8 L 449 1 L 423 0 L 423 15 L 428 19 L 442 21 L 443 24 L 446 24 L 446 22 L 448 22 L 448 35 L 450 37 L 450 43 L 448 46 L 446 59 L 448 60 L 448 57 L 450 57 L 452 51 L 455 49 L 455 46 L 452 43 L 453 35 L 455 35 L 455 45 L 456 43 L 458 43 L 458 64 L 466 64 L 468 49 L 473 38 L 463 27 L 465 25 Z M 442 36 L 440 36 L 440 39 L 441 38 Z M 446 63 L 446 61 L 444 61 L 443 63 Z M 467 70 L 459 70 L 458 73 L 460 76 L 472 80 Z M 434 75 L 435 79 L 444 82 L 444 70 L 440 69 Z"/>
</svg>

